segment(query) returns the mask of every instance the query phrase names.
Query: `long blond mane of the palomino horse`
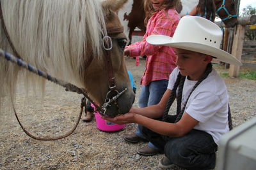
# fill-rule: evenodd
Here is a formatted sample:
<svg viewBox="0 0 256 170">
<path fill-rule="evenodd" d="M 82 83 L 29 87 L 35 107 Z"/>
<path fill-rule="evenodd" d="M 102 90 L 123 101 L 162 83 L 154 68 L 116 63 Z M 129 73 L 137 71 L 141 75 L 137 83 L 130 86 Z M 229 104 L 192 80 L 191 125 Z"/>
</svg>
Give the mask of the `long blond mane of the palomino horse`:
<svg viewBox="0 0 256 170">
<path fill-rule="evenodd" d="M 78 75 L 84 70 L 84 56 L 102 56 L 100 39 L 106 27 L 100 1 L 12 0 L 1 4 L 6 30 L 20 57 L 57 78 L 81 85 Z M 1 43 L 6 39 L 0 40 L 4 49 Z"/>
</svg>

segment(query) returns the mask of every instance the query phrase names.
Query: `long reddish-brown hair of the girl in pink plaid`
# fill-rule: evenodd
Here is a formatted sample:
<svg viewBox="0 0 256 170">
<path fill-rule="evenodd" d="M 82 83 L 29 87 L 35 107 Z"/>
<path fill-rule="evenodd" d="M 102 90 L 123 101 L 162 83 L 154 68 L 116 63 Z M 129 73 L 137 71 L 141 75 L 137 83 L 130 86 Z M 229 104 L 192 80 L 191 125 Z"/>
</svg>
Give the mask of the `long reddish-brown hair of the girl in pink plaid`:
<svg viewBox="0 0 256 170">
<path fill-rule="evenodd" d="M 161 9 L 168 11 L 170 8 L 176 8 L 180 0 L 165 0 Z M 147 26 L 148 19 L 156 12 L 152 6 L 151 0 L 144 1 L 145 20 L 144 24 Z"/>
</svg>

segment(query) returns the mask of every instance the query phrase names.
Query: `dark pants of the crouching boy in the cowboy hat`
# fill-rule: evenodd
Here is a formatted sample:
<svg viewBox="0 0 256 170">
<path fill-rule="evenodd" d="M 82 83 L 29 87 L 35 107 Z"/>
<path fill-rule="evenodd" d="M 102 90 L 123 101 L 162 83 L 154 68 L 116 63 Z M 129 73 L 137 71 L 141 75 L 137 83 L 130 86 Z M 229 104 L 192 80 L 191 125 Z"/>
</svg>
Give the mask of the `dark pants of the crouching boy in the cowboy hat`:
<svg viewBox="0 0 256 170">
<path fill-rule="evenodd" d="M 169 116 L 168 122 L 174 122 L 175 118 L 175 116 Z M 140 126 L 140 130 L 148 141 L 162 150 L 177 166 L 189 170 L 215 167 L 217 145 L 207 132 L 193 129 L 179 138 L 165 138 L 143 126 Z"/>
</svg>

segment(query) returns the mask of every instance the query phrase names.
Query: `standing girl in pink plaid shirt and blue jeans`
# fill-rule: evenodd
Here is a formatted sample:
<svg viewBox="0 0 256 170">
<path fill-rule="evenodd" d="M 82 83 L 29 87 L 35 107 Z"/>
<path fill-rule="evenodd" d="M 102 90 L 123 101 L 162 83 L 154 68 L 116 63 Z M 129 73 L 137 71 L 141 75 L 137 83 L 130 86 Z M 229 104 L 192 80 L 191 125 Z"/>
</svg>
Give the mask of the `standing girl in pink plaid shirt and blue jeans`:
<svg viewBox="0 0 256 170">
<path fill-rule="evenodd" d="M 146 69 L 141 78 L 141 94 L 139 106 L 144 108 L 159 103 L 163 96 L 170 73 L 175 66 L 176 54 L 170 46 L 153 46 L 146 38 L 152 34 L 173 36 L 179 22 L 179 14 L 175 10 L 178 0 L 145 0 L 144 8 L 147 17 L 147 31 L 143 39 L 126 46 L 124 54 L 130 57 L 147 55 Z M 125 141 L 136 143 L 143 140 L 140 129 L 132 134 L 124 135 Z M 159 152 L 152 143 L 138 150 L 142 155 L 154 155 Z"/>
</svg>

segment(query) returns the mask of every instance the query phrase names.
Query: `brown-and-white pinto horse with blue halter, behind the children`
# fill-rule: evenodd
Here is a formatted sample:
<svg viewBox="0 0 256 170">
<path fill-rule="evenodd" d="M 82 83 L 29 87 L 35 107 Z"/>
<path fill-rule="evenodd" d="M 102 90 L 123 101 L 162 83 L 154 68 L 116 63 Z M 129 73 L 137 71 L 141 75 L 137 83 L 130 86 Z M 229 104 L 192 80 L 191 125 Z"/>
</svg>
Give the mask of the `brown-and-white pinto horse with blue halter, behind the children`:
<svg viewBox="0 0 256 170">
<path fill-rule="evenodd" d="M 146 31 L 144 25 L 145 11 L 143 10 L 144 0 L 128 0 L 122 9 L 118 11 L 118 17 L 124 25 L 125 34 L 131 40 L 132 31 L 135 27 Z M 214 0 L 216 13 L 223 20 L 225 27 L 234 27 L 237 22 L 234 0 Z M 180 0 L 177 11 L 180 16 L 187 15 L 196 5 L 198 0 Z"/>
</svg>

